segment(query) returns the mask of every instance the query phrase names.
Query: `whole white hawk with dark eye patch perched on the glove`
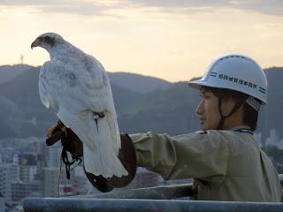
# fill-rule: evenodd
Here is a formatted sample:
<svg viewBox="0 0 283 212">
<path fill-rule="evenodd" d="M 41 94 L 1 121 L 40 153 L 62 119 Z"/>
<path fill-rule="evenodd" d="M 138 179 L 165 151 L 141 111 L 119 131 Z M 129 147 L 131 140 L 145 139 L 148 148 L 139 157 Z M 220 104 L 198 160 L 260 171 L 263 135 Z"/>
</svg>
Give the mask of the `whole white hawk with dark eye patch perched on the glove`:
<svg viewBox="0 0 283 212">
<path fill-rule="evenodd" d="M 50 53 L 39 76 L 42 103 L 82 140 L 85 169 L 104 178 L 127 175 L 117 157 L 119 127 L 103 65 L 58 34 L 40 35 L 36 46 Z M 96 122 L 95 112 L 105 116 Z"/>
</svg>

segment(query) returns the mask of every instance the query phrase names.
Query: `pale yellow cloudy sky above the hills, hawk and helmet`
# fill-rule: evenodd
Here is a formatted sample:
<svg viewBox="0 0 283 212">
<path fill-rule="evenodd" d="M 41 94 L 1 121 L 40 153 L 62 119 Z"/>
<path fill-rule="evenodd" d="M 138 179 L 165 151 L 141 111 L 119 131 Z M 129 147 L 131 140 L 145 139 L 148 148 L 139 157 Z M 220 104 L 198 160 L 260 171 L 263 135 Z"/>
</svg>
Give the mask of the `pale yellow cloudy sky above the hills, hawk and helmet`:
<svg viewBox="0 0 283 212">
<path fill-rule="evenodd" d="M 96 57 L 107 72 L 168 81 L 202 76 L 210 62 L 241 53 L 283 66 L 282 0 L 0 0 L 0 65 L 42 65 L 30 49 L 54 32 Z"/>
</svg>

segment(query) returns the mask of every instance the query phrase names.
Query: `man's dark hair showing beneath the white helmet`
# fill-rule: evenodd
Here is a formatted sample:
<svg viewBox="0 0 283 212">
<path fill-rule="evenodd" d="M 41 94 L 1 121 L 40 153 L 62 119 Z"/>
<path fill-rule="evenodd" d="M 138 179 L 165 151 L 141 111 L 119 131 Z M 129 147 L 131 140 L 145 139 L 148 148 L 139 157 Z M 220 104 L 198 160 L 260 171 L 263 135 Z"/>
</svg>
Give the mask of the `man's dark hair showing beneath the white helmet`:
<svg viewBox="0 0 283 212">
<path fill-rule="evenodd" d="M 217 87 L 202 87 L 204 91 L 210 91 L 213 95 L 218 98 L 221 96 L 223 101 L 228 101 L 229 99 L 235 99 L 236 101 L 246 100 L 249 95 L 243 94 L 239 91 L 234 91 L 226 88 Z M 256 99 L 257 102 L 260 102 Z M 243 122 L 245 125 L 249 125 L 251 130 L 256 130 L 258 111 L 253 109 L 247 102 L 243 102 Z"/>
</svg>

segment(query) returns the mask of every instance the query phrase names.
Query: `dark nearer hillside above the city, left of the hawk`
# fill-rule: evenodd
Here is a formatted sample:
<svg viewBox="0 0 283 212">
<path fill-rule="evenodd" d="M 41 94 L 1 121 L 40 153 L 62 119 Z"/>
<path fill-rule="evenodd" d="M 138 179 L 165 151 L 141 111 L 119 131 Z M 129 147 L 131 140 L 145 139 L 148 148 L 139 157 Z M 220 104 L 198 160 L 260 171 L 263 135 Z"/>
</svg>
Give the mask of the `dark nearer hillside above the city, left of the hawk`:
<svg viewBox="0 0 283 212">
<path fill-rule="evenodd" d="M 16 117 L 19 117 L 16 110 L 11 109 L 4 114 L 4 119 L 14 117 L 15 124 L 20 123 L 20 129 L 15 130 L 15 135 L 19 134 L 22 137 L 27 137 L 32 134 L 44 134 L 46 125 L 50 125 L 56 120 L 53 112 L 46 110 L 40 100 L 38 74 L 39 69 L 32 67 L 0 85 L 0 96 L 17 105 L 17 110 L 20 111 L 20 121 L 16 119 Z M 2 102 L 0 102 L 0 108 L 3 108 Z M 39 121 L 34 125 L 33 120 Z"/>
</svg>

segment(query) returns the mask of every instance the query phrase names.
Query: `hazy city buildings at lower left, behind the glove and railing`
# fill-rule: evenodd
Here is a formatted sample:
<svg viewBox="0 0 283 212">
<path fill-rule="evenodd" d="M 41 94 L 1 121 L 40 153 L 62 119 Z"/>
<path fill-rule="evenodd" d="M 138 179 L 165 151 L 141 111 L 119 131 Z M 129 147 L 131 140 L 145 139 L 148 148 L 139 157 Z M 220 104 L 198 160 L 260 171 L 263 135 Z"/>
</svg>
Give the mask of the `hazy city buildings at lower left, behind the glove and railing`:
<svg viewBox="0 0 283 212">
<path fill-rule="evenodd" d="M 81 164 L 66 179 L 60 163 L 61 145 L 46 147 L 44 139 L 0 140 L 0 211 L 22 211 L 26 197 L 62 197 L 99 193 L 85 177 Z M 163 179 L 142 168 L 123 189 L 158 186 Z"/>
</svg>

